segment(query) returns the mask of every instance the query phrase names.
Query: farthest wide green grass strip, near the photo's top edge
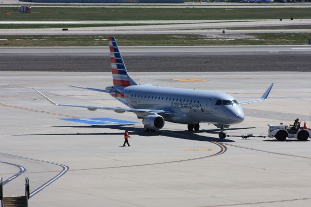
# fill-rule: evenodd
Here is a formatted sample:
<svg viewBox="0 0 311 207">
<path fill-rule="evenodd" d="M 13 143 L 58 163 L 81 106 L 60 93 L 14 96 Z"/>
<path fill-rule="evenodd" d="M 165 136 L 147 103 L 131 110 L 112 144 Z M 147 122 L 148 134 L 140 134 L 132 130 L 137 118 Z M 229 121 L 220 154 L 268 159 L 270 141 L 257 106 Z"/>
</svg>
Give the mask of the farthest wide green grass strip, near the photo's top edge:
<svg viewBox="0 0 311 207">
<path fill-rule="evenodd" d="M 311 18 L 311 8 L 44 8 L 12 13 L 0 7 L 0 20 L 198 20 Z"/>
</svg>

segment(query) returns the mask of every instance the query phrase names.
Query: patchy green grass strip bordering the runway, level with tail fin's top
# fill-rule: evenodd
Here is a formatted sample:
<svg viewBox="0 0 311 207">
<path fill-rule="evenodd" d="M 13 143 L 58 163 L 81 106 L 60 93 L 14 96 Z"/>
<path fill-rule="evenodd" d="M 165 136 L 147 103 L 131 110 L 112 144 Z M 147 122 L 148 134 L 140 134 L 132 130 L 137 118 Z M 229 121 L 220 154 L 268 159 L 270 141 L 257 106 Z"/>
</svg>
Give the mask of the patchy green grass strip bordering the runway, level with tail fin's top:
<svg viewBox="0 0 311 207">
<path fill-rule="evenodd" d="M 120 46 L 299 45 L 310 33 L 248 34 L 253 39 L 208 38 L 204 35 L 115 35 Z M 108 46 L 108 35 L 1 35 L 0 47 Z"/>
</svg>

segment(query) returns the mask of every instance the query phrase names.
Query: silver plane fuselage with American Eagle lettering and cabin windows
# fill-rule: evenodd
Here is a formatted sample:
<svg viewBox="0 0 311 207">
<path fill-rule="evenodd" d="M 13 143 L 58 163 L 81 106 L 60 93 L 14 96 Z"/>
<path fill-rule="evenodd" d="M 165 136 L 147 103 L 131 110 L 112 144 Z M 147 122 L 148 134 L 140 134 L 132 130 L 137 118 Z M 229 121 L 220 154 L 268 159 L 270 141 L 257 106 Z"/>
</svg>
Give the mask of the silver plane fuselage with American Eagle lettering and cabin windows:
<svg viewBox="0 0 311 207">
<path fill-rule="evenodd" d="M 158 86 L 127 86 L 124 101 L 131 108 L 171 111 L 166 121 L 184 124 L 200 122 L 235 124 L 244 120 L 236 100 L 223 92 Z"/>
</svg>

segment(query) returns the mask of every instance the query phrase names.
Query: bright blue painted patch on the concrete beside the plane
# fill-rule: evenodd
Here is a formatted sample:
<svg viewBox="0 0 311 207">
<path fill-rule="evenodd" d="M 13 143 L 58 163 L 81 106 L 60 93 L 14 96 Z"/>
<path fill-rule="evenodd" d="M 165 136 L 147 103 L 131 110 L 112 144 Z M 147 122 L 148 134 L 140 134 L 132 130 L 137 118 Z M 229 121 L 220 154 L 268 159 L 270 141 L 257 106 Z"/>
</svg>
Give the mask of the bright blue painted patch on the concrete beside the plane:
<svg viewBox="0 0 311 207">
<path fill-rule="evenodd" d="M 135 121 L 117 120 L 111 118 L 74 118 L 74 119 L 60 119 L 65 121 L 74 121 L 87 124 L 120 124 L 120 123 L 138 123 Z"/>
</svg>

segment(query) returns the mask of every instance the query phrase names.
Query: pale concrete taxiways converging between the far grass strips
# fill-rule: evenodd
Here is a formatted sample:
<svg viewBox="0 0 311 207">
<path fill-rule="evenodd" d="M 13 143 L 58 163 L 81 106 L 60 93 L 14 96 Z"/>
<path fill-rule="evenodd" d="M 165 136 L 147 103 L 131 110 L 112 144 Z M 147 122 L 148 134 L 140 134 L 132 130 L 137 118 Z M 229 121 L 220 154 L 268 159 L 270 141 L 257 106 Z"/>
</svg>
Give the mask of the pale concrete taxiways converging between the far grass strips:
<svg viewBox="0 0 311 207">
<path fill-rule="evenodd" d="M 2 21 L 0 24 L 104 24 L 124 21 Z M 310 26 L 311 19 L 244 19 L 244 20 L 198 20 L 198 21 L 128 21 L 125 24 L 155 24 L 135 26 L 110 26 L 110 27 L 77 27 L 62 31 L 62 28 L 40 29 L 0 29 L 1 35 L 113 35 L 113 34 L 199 34 L 221 35 L 224 28 L 234 27 L 277 27 L 277 26 Z M 163 25 L 165 24 L 165 25 Z M 216 28 L 218 30 L 211 30 Z M 219 30 L 220 29 L 220 30 Z M 254 30 L 225 30 L 226 35 L 250 34 L 250 33 L 310 33 L 311 29 L 254 29 Z M 225 36 L 225 35 L 223 35 Z M 235 38 L 239 38 L 238 35 Z M 240 37 L 241 38 L 241 37 Z"/>
</svg>

